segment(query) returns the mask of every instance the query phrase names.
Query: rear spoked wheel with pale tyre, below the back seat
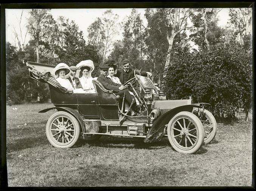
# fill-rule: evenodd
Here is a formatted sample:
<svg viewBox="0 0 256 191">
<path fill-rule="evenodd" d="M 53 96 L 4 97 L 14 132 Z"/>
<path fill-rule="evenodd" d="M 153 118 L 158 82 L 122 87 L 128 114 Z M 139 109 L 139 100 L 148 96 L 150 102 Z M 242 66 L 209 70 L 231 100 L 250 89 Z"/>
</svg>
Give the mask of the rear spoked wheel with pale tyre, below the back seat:
<svg viewBox="0 0 256 191">
<path fill-rule="evenodd" d="M 79 122 L 71 114 L 65 111 L 58 111 L 47 121 L 46 136 L 54 147 L 70 148 L 79 139 Z"/>
</svg>

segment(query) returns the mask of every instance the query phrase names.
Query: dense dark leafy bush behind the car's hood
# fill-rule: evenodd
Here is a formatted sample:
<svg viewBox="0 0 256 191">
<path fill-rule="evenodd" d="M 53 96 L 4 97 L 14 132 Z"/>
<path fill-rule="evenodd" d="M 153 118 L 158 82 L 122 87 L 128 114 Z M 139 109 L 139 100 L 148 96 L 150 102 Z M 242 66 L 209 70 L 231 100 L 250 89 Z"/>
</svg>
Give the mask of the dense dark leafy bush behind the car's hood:
<svg viewBox="0 0 256 191">
<path fill-rule="evenodd" d="M 182 52 L 166 71 L 163 90 L 168 99 L 211 104 L 216 117 L 232 118 L 244 108 L 248 114 L 252 97 L 252 55 L 235 42 L 209 49 Z"/>
</svg>

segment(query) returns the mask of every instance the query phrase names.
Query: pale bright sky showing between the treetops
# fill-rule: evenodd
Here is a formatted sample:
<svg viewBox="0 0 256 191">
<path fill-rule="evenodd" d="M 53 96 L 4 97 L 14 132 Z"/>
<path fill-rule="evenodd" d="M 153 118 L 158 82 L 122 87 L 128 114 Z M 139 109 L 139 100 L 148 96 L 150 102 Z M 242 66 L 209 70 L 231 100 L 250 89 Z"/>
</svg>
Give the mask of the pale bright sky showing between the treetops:
<svg viewBox="0 0 256 191">
<path fill-rule="evenodd" d="M 147 25 L 146 18 L 144 17 L 145 9 L 136 8 L 138 13 L 141 15 L 144 25 Z M 23 35 L 26 33 L 26 18 L 28 18 L 29 11 L 31 9 L 6 9 L 6 42 L 10 42 L 12 45 L 15 45 L 15 35 L 14 28 L 19 30 L 19 20 L 23 10 L 21 27 Z M 64 16 L 69 18 L 69 20 L 74 20 L 74 22 L 79 26 L 79 29 L 83 31 L 84 39 L 87 40 L 88 31 L 87 28 L 92 24 L 97 17 L 101 15 L 108 9 L 51 9 L 50 13 L 53 15 L 53 18 L 57 20 L 59 16 Z M 219 26 L 225 26 L 228 22 L 228 10 L 229 8 L 222 8 L 218 13 L 219 16 Z M 125 21 L 132 12 L 132 8 L 115 8 L 112 9 L 113 13 L 119 15 L 119 22 Z M 116 40 L 122 38 L 122 32 L 119 32 L 119 35 L 116 37 Z M 26 37 L 26 43 L 29 41 L 29 34 Z"/>
</svg>

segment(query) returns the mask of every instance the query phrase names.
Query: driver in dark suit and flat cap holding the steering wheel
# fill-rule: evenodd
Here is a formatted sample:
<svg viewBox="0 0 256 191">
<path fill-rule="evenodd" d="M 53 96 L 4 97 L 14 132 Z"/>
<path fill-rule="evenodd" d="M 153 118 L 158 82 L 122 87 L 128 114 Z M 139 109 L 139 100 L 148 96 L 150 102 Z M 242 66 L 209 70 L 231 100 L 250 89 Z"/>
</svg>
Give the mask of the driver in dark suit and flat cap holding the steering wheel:
<svg viewBox="0 0 256 191">
<path fill-rule="evenodd" d="M 119 95 L 121 98 L 125 96 L 125 100 L 129 103 L 129 105 L 132 103 L 132 95 L 129 93 L 128 85 L 121 85 L 115 82 L 112 82 L 109 78 L 107 78 L 109 66 L 108 65 L 100 65 L 100 75 L 98 77 L 98 81 L 102 83 L 102 85 L 109 90 L 113 90 L 113 93 L 116 95 Z M 124 94 L 125 93 L 125 94 Z M 133 103 L 132 109 L 137 111 L 138 106 L 136 105 L 136 102 Z M 131 111 L 131 116 L 136 116 L 137 113 L 135 111 Z M 137 111 L 138 112 L 138 111 Z"/>
</svg>

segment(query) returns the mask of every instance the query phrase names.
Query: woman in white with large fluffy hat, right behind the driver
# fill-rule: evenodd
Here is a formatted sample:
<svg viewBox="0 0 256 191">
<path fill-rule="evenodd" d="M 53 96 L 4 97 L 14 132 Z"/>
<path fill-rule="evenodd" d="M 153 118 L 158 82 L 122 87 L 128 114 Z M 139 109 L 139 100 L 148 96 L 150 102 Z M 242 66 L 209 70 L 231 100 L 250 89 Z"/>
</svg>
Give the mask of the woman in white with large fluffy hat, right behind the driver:
<svg viewBox="0 0 256 191">
<path fill-rule="evenodd" d="M 79 62 L 76 67 L 79 72 L 79 81 L 82 85 L 82 88 L 90 93 L 95 93 L 95 89 L 92 83 L 92 71 L 94 70 L 94 65 L 92 60 L 83 60 Z"/>
</svg>

